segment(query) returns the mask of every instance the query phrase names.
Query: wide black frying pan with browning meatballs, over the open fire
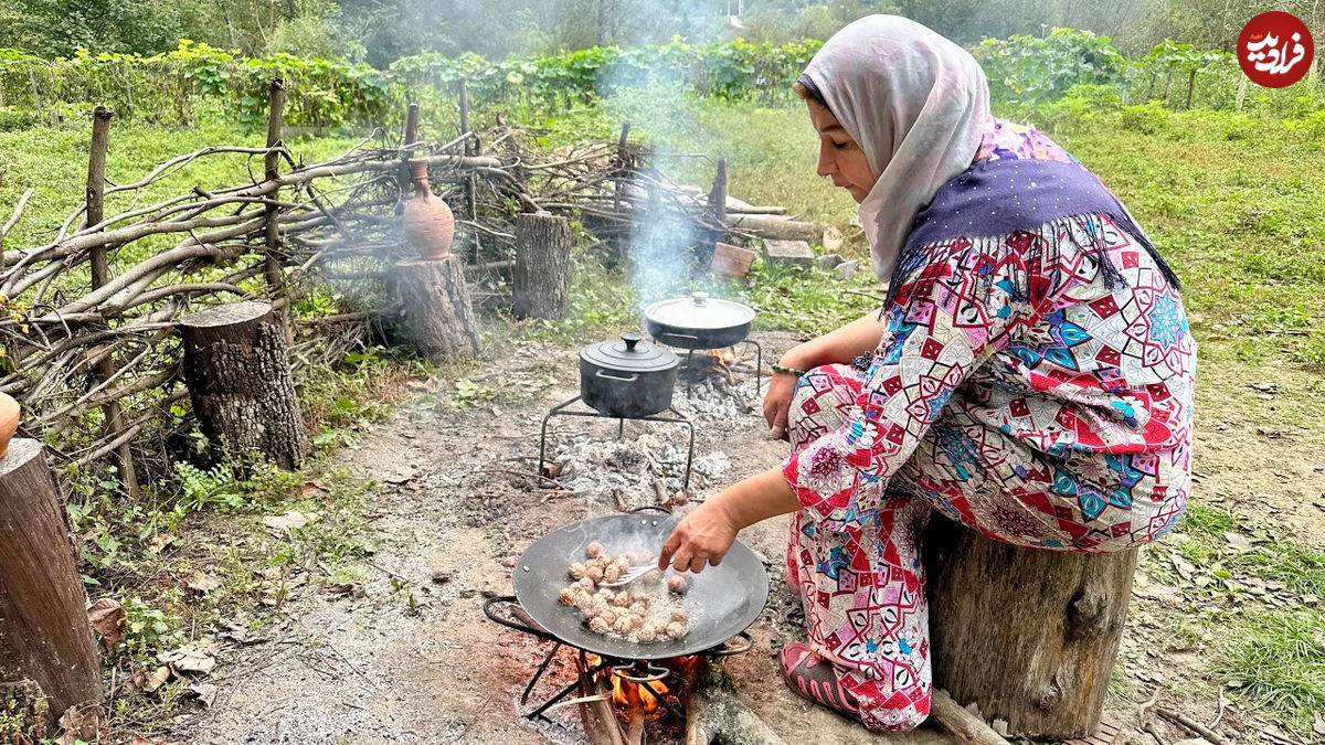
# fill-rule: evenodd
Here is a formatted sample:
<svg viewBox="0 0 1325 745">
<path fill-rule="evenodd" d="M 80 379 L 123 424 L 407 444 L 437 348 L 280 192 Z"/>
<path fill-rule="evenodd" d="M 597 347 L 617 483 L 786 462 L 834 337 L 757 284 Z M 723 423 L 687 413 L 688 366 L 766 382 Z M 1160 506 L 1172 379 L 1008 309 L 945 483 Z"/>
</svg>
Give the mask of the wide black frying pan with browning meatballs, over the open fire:
<svg viewBox="0 0 1325 745">
<path fill-rule="evenodd" d="M 729 639 L 742 635 L 768 602 L 768 574 L 763 562 L 739 541 L 731 544 L 731 550 L 721 565 L 685 575 L 690 589 L 682 604 L 690 614 L 690 632 L 681 639 L 641 644 L 595 634 L 580 620 L 578 608 L 560 604 L 558 594 L 571 582 L 566 569 L 572 562 L 584 561 L 584 549 L 591 542 L 602 542 L 610 554 L 639 550 L 657 553 L 662 547 L 662 542 L 676 528 L 677 518 L 661 508 L 645 509 L 659 512 L 631 512 L 583 520 L 547 533 L 519 557 L 514 571 L 513 599 L 547 631 L 546 635 L 517 626 L 494 612 L 496 603 L 510 598 L 493 598 L 484 611 L 505 626 L 550 636 L 604 658 L 659 660 L 700 652 L 723 654 L 718 648 Z"/>
</svg>

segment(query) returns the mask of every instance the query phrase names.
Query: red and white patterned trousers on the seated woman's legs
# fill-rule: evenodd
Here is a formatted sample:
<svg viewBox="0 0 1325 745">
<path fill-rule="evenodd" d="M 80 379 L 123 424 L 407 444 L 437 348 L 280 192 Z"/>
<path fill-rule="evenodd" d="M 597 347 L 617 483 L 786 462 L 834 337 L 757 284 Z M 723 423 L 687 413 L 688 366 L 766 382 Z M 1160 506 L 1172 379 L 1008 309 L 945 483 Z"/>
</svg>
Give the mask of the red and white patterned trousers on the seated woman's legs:
<svg viewBox="0 0 1325 745">
<path fill-rule="evenodd" d="M 795 449 L 841 427 L 856 414 L 863 372 L 845 365 L 816 367 L 796 386 L 788 416 Z M 861 720 L 872 730 L 905 730 L 921 724 L 930 707 L 929 608 L 921 565 L 921 533 L 941 512 L 980 533 L 1011 544 L 1072 549 L 1071 536 L 1036 518 L 1035 510 L 982 468 L 970 422 L 945 415 L 886 483 L 881 506 L 849 524 L 816 521 L 807 510 L 791 520 L 787 583 L 806 608 L 810 647 L 843 673 Z M 990 448 L 983 443 L 983 448 Z M 1003 461 L 1034 459 L 1008 448 Z M 1077 510 L 1064 500 L 1061 510 Z M 1134 545 L 1130 537 L 1088 550 Z"/>
</svg>

